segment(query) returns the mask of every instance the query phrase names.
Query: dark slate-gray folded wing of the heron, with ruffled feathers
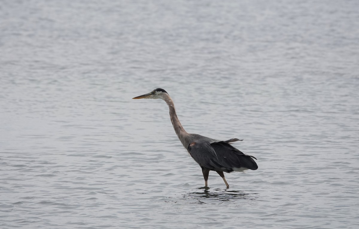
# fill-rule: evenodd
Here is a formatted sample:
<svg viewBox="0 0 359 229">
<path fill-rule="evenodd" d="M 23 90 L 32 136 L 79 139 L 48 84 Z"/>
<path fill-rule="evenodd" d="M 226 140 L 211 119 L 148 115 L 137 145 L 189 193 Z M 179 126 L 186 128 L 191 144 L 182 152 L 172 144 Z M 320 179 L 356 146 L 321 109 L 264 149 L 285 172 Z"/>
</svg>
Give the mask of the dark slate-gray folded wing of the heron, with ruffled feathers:
<svg viewBox="0 0 359 229">
<path fill-rule="evenodd" d="M 258 166 L 253 156 L 243 154 L 230 145 L 230 142 L 240 141 L 232 138 L 227 141 L 194 141 L 188 145 L 191 157 L 202 167 L 210 170 L 232 172 L 241 169 L 256 170 Z"/>
</svg>

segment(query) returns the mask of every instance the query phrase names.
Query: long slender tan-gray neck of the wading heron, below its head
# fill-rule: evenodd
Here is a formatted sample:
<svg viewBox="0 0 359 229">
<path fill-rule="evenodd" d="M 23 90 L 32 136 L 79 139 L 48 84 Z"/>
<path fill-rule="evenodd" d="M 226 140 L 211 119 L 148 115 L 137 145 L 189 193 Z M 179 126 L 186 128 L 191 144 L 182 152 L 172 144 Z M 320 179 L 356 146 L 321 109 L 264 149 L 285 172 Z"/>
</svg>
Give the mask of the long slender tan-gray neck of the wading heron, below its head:
<svg viewBox="0 0 359 229">
<path fill-rule="evenodd" d="M 169 108 L 169 117 L 171 118 L 171 122 L 174 128 L 174 131 L 176 132 L 178 138 L 180 139 L 180 141 L 182 142 L 182 145 L 185 146 L 187 148 L 188 146 L 188 136 L 189 133 L 187 133 L 185 131 L 185 129 L 182 127 L 180 120 L 178 120 L 178 117 L 176 115 L 176 110 L 174 109 L 174 104 L 173 101 L 171 99 L 171 97 L 169 97 L 169 95 L 166 93 L 163 96 L 163 100 L 167 103 L 168 108 Z"/>
</svg>

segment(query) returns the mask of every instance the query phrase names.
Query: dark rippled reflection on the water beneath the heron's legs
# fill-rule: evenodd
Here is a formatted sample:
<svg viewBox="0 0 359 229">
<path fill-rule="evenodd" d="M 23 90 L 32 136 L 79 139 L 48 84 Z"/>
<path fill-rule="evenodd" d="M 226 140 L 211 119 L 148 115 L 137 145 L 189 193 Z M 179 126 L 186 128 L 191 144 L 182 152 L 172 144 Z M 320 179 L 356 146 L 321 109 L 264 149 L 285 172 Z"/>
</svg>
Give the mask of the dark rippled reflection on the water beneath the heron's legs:
<svg viewBox="0 0 359 229">
<path fill-rule="evenodd" d="M 211 198 L 219 201 L 231 201 L 235 199 L 249 199 L 254 200 L 258 198 L 258 193 L 244 193 L 240 190 L 223 190 L 223 189 L 210 189 L 209 187 L 202 187 L 202 191 L 189 193 L 195 199 Z M 186 195 L 187 196 L 187 195 Z M 201 201 L 200 201 L 201 202 Z M 202 203 L 202 202 L 201 202 Z"/>
</svg>

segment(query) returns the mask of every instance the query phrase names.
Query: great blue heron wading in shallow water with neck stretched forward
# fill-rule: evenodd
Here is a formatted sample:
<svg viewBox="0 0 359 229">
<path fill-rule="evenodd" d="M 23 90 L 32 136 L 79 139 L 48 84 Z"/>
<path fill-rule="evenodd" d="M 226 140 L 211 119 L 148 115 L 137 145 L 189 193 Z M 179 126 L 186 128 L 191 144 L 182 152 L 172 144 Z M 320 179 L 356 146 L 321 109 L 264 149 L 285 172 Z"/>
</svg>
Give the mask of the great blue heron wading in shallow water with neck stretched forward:
<svg viewBox="0 0 359 229">
<path fill-rule="evenodd" d="M 229 185 L 224 178 L 223 172 L 258 169 L 256 162 L 253 160 L 253 158 L 256 159 L 255 157 L 243 154 L 230 145 L 232 142 L 242 140 L 232 138 L 227 141 L 218 141 L 195 133 L 187 133 L 178 120 L 171 97 L 162 88 L 154 89 L 150 93 L 133 99 L 163 99 L 167 103 L 174 131 L 191 157 L 201 166 L 206 187 L 210 170 L 216 171 L 223 178 L 228 188 Z"/>
</svg>

